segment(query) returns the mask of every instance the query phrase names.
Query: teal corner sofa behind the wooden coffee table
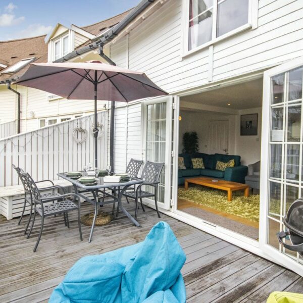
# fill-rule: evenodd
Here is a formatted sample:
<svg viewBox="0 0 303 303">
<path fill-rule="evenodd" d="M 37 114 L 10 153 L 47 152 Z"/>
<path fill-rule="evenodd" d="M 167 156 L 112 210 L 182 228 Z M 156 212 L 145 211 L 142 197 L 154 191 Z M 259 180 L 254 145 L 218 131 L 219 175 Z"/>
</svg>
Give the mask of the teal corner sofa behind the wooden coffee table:
<svg viewBox="0 0 303 303">
<path fill-rule="evenodd" d="M 241 157 L 234 155 L 214 154 L 208 155 L 204 153 L 195 154 L 179 154 L 179 157 L 184 158 L 186 169 L 178 170 L 178 185 L 183 185 L 186 178 L 191 177 L 211 177 L 226 181 L 245 183 L 247 175 L 247 166 L 241 165 Z M 202 158 L 205 168 L 193 168 L 191 159 Z M 217 161 L 228 162 L 234 160 L 235 166 L 228 167 L 225 171 L 216 170 Z"/>
</svg>

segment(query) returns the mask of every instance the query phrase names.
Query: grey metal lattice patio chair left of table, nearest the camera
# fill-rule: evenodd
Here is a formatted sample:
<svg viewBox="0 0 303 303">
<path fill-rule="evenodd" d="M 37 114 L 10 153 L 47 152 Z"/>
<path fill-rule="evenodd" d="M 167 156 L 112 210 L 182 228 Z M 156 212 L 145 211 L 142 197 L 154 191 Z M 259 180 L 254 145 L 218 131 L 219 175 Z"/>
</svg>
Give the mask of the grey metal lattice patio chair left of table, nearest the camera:
<svg viewBox="0 0 303 303">
<path fill-rule="evenodd" d="M 44 218 L 63 213 L 66 215 L 67 227 L 69 228 L 69 221 L 68 221 L 67 213 L 70 211 L 73 211 L 73 210 L 78 210 L 78 228 L 79 228 L 80 240 L 82 241 L 82 231 L 81 231 L 81 223 L 80 223 L 80 214 L 81 214 L 80 197 L 77 194 L 72 193 L 72 192 L 61 194 L 59 196 L 49 195 L 49 196 L 42 197 L 40 194 L 40 191 L 39 191 L 36 183 L 32 179 L 32 177 L 28 173 L 23 172 L 22 170 L 20 172 L 27 182 L 27 187 L 30 190 L 33 205 L 34 205 L 34 217 L 33 217 L 32 224 L 31 224 L 27 238 L 29 238 L 29 236 L 32 232 L 32 229 L 33 229 L 33 226 L 35 223 L 36 214 L 41 216 L 40 232 L 39 232 L 38 239 L 37 239 L 37 242 L 36 242 L 36 245 L 35 245 L 33 251 L 35 252 L 37 250 L 38 244 L 40 242 L 40 238 L 41 238 L 42 231 L 43 231 Z M 71 197 L 73 197 L 73 198 L 71 199 Z M 77 204 L 75 204 L 76 199 L 78 200 Z M 44 205 L 47 202 L 53 202 L 53 203 Z"/>
</svg>

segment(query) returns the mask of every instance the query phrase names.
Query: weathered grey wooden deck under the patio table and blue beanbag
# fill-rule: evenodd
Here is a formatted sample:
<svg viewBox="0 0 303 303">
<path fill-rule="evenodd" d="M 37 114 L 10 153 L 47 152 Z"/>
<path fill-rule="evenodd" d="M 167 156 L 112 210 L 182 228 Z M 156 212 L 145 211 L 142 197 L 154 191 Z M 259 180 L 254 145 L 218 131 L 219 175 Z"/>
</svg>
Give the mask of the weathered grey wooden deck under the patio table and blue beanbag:
<svg viewBox="0 0 303 303">
<path fill-rule="evenodd" d="M 133 205 L 127 205 L 133 210 Z M 85 214 L 91 206 L 82 208 Z M 110 206 L 103 211 L 110 211 Z M 137 228 L 126 217 L 96 227 L 88 243 L 89 228 L 83 226 L 79 240 L 76 213 L 70 215 L 70 229 L 62 216 L 46 219 L 38 250 L 32 252 L 39 221 L 30 239 L 23 235 L 17 219 L 0 216 L 0 302 L 47 301 L 69 268 L 81 257 L 102 254 L 142 241 L 159 221 L 156 212 L 139 210 Z M 264 302 L 275 290 L 303 292 L 303 278 L 250 254 L 219 238 L 162 215 L 170 224 L 187 256 L 182 269 L 188 302 Z"/>
</svg>

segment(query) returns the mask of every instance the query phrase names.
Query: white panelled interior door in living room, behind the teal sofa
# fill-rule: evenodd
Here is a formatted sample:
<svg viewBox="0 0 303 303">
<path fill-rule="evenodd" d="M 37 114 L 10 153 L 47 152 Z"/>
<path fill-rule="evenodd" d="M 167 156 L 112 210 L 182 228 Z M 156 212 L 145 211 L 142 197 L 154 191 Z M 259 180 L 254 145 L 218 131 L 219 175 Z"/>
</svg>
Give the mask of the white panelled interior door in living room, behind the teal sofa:
<svg viewBox="0 0 303 303">
<path fill-rule="evenodd" d="M 228 120 L 210 121 L 209 154 L 228 154 Z"/>
</svg>

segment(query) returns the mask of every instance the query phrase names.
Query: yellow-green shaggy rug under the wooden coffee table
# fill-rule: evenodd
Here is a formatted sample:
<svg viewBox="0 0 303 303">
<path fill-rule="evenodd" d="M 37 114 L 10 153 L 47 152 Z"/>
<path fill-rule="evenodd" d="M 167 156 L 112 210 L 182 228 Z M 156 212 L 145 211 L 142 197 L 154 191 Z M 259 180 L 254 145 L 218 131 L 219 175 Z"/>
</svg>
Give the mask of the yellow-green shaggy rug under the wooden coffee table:
<svg viewBox="0 0 303 303">
<path fill-rule="evenodd" d="M 227 192 L 203 186 L 193 186 L 188 190 L 178 189 L 178 198 L 204 205 L 227 214 L 250 221 L 259 222 L 260 195 L 244 197 L 243 191 L 234 191 L 232 201 L 227 201 Z"/>
</svg>

